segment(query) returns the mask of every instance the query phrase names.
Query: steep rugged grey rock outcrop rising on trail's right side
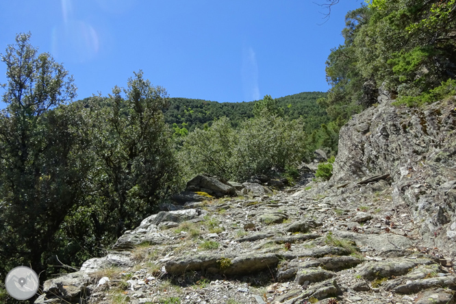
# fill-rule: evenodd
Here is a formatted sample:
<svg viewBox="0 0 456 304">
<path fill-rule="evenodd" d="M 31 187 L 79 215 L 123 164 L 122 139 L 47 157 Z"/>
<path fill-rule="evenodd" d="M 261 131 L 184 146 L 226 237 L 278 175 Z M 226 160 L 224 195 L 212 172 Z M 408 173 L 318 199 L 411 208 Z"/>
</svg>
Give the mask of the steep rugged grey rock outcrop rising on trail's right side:
<svg viewBox="0 0 456 304">
<path fill-rule="evenodd" d="M 421 108 L 383 99 L 340 130 L 332 185 L 389 174 L 395 205 L 405 205 L 425 246 L 456 256 L 454 99 Z"/>
</svg>

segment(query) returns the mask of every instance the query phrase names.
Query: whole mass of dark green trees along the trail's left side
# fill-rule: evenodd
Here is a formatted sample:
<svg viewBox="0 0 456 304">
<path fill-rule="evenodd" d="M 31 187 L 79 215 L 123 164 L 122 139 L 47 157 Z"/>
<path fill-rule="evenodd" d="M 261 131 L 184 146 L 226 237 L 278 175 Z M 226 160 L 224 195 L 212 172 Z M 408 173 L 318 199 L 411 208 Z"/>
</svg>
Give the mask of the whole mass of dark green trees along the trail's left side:
<svg viewBox="0 0 456 304">
<path fill-rule="evenodd" d="M 60 261 L 80 266 L 101 255 L 180 177 L 163 88 L 139 72 L 107 99 L 66 105 L 73 79 L 29 37 L 19 34 L 1 56 L 8 107 L 0 112 L 0 273 L 31 265 L 46 279 Z"/>
</svg>

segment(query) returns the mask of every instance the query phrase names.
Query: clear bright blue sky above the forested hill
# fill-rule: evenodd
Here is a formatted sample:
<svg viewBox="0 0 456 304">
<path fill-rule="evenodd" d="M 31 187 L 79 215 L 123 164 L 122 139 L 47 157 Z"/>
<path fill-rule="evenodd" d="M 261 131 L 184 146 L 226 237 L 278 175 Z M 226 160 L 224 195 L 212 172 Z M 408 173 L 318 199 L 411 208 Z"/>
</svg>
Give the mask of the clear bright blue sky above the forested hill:
<svg viewBox="0 0 456 304">
<path fill-rule="evenodd" d="M 30 31 L 31 44 L 74 75 L 77 99 L 106 96 L 139 69 L 170 97 L 239 102 L 326 91 L 325 60 L 343 42 L 346 12 L 362 1 L 341 1 L 326 23 L 323 1 L 1 1 L 0 53 Z"/>
</svg>

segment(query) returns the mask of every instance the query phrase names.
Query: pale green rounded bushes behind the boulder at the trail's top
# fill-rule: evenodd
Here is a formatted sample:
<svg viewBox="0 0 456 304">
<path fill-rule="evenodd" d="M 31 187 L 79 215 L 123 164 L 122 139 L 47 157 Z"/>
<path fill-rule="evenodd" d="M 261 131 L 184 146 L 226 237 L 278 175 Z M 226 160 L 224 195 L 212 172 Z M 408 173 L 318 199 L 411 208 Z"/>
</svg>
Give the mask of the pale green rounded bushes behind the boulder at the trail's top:
<svg viewBox="0 0 456 304">
<path fill-rule="evenodd" d="M 234 129 L 229 118 L 220 118 L 207 130 L 196 129 L 184 138 L 179 161 L 187 178 L 210 173 L 244 180 L 273 166 L 292 166 L 306 151 L 299 120 L 260 116 Z"/>
</svg>

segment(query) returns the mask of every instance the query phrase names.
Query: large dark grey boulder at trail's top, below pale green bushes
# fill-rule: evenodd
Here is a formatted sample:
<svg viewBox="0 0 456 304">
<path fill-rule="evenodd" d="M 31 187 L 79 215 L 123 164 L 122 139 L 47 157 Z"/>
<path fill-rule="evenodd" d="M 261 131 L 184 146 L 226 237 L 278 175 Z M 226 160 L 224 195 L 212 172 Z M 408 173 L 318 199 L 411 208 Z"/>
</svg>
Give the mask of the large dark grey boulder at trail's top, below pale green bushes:
<svg viewBox="0 0 456 304">
<path fill-rule="evenodd" d="M 187 183 L 187 191 L 207 192 L 215 197 L 225 195 L 235 195 L 236 189 L 223 179 L 218 179 L 211 175 L 197 175 Z"/>
</svg>

